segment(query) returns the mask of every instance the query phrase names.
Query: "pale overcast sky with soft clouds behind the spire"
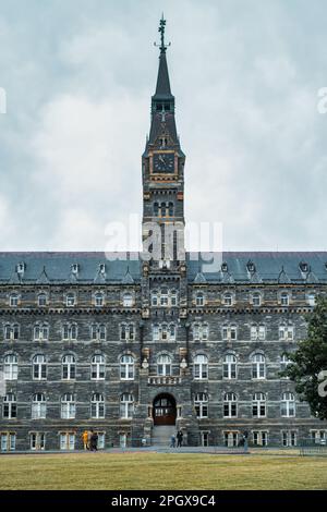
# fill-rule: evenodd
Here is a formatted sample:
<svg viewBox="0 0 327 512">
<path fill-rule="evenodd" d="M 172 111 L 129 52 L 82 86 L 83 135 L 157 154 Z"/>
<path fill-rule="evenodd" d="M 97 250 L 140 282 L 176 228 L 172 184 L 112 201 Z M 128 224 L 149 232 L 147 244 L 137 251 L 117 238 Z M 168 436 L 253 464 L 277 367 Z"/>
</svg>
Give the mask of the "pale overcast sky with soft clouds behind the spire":
<svg viewBox="0 0 327 512">
<path fill-rule="evenodd" d="M 162 10 L 186 220 L 326 249 L 325 0 L 0 0 L 0 249 L 101 251 L 141 215 Z"/>
</svg>

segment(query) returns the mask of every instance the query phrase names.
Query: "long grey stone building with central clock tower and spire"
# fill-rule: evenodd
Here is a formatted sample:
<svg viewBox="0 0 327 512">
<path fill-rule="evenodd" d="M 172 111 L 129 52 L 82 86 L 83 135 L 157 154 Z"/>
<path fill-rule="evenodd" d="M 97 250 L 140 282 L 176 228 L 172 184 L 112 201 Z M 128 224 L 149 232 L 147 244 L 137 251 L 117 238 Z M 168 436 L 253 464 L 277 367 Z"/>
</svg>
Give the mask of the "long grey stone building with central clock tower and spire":
<svg viewBox="0 0 327 512">
<path fill-rule="evenodd" d="M 177 429 L 191 446 L 235 446 L 245 431 L 264 446 L 326 438 L 280 371 L 326 291 L 327 253 L 222 253 L 215 265 L 185 254 L 164 20 L 160 32 L 142 157 L 149 258 L 0 254 L 2 451 L 78 449 L 90 428 L 99 448 Z"/>
</svg>

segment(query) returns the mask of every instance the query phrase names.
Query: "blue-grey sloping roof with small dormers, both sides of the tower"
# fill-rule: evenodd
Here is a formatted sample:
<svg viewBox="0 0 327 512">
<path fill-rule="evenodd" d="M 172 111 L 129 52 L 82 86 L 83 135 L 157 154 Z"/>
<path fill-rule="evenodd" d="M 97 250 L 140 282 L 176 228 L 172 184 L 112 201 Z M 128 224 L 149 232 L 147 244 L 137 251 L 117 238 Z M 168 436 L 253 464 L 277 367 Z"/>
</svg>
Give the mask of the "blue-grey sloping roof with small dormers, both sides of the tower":
<svg viewBox="0 0 327 512">
<path fill-rule="evenodd" d="M 23 273 L 17 266 L 23 264 Z M 73 266 L 75 265 L 75 268 Z M 2 284 L 133 284 L 141 281 L 142 258 L 135 253 L 0 253 Z M 187 280 L 206 283 L 327 284 L 327 252 L 228 252 L 215 260 L 187 253 Z"/>
</svg>

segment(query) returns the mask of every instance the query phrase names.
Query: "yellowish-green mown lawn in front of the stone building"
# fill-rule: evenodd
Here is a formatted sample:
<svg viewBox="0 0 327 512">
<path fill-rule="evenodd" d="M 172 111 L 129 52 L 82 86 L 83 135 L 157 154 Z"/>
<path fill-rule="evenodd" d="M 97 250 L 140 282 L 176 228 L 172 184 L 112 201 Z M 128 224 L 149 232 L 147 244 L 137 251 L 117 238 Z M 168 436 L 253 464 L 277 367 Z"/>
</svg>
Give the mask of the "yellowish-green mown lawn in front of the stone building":
<svg viewBox="0 0 327 512">
<path fill-rule="evenodd" d="M 327 489 L 327 458 L 170 453 L 0 456 L 0 489 Z"/>
</svg>

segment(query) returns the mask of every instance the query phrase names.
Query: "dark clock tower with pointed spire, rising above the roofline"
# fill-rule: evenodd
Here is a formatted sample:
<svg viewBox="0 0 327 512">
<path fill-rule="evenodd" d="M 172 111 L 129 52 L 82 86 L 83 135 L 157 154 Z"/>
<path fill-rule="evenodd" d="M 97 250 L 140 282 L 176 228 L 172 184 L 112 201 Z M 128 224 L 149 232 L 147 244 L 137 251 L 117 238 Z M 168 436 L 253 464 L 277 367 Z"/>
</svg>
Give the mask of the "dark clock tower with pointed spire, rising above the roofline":
<svg viewBox="0 0 327 512">
<path fill-rule="evenodd" d="M 185 259 L 184 163 L 174 119 L 165 44 L 164 16 L 159 33 L 159 70 L 152 97 L 150 132 L 142 157 L 143 247 L 154 267 L 171 268 Z M 157 46 L 157 45 L 156 45 Z"/>
</svg>

